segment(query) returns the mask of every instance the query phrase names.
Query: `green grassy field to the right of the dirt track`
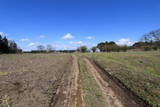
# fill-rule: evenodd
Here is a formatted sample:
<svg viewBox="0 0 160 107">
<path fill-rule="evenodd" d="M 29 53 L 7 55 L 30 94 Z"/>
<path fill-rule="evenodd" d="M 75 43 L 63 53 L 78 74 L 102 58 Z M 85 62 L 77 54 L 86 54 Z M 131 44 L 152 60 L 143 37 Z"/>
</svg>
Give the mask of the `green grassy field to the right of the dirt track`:
<svg viewBox="0 0 160 107">
<path fill-rule="evenodd" d="M 160 52 L 83 54 L 122 81 L 150 106 L 160 106 Z"/>
</svg>

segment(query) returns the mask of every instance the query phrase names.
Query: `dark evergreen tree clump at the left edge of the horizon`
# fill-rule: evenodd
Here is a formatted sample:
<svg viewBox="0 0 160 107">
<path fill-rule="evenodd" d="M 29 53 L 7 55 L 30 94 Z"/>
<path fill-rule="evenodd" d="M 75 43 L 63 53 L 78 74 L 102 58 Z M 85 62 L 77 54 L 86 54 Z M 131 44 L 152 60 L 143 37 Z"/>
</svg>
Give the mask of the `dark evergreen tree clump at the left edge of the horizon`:
<svg viewBox="0 0 160 107">
<path fill-rule="evenodd" d="M 0 35 L 0 53 L 22 52 L 14 41 L 8 40 L 6 36 Z"/>
</svg>

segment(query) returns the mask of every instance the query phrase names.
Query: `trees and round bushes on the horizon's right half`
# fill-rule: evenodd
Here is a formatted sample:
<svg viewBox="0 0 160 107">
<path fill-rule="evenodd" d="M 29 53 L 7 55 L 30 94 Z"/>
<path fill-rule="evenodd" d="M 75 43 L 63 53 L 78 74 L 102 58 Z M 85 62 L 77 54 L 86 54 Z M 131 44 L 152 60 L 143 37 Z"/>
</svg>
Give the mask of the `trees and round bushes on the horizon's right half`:
<svg viewBox="0 0 160 107">
<path fill-rule="evenodd" d="M 127 50 L 158 50 L 160 49 L 160 29 L 151 31 L 142 36 L 141 40 L 134 43 L 132 46 L 118 45 L 114 41 L 106 41 L 98 43 L 97 46 L 91 48 L 92 52 L 99 50 L 100 52 L 126 52 Z M 77 48 L 78 52 L 87 52 L 87 46 Z"/>
</svg>

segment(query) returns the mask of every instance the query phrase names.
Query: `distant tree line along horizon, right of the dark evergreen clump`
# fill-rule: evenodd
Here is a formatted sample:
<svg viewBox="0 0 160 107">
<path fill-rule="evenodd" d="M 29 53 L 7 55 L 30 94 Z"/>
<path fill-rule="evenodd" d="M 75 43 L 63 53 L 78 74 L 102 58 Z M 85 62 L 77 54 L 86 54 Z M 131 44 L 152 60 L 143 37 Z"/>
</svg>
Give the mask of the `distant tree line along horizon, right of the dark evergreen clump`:
<svg viewBox="0 0 160 107">
<path fill-rule="evenodd" d="M 140 41 L 134 43 L 132 46 L 127 45 L 118 45 L 114 41 L 106 41 L 98 43 L 97 46 L 89 49 L 87 46 L 80 46 L 76 50 L 59 50 L 55 51 L 52 45 L 47 45 L 46 47 L 43 45 L 38 45 L 37 50 L 32 51 L 32 53 L 39 52 L 126 52 L 127 50 L 141 50 L 141 51 L 150 51 L 150 50 L 158 50 L 160 49 L 160 29 L 151 31 L 142 36 Z"/>
</svg>

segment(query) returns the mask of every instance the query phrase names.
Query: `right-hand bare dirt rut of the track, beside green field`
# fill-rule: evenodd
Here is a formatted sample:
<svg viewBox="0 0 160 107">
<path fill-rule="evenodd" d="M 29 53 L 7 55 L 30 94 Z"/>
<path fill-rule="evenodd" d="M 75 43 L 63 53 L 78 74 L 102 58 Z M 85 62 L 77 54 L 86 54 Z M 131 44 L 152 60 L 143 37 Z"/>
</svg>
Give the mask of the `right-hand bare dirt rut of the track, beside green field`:
<svg viewBox="0 0 160 107">
<path fill-rule="evenodd" d="M 89 72 L 101 88 L 107 107 L 144 107 L 130 98 L 123 89 L 111 81 L 96 65 L 84 58 Z"/>
</svg>

